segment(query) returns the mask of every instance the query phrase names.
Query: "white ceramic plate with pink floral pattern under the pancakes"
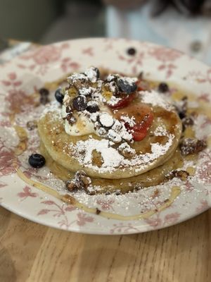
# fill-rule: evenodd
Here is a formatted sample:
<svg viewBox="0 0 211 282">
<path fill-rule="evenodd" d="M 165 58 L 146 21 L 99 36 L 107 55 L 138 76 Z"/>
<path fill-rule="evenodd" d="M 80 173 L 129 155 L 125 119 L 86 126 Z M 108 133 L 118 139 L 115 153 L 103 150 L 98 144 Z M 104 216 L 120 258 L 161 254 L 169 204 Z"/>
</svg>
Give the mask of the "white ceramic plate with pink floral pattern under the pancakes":
<svg viewBox="0 0 211 282">
<path fill-rule="evenodd" d="M 136 54 L 127 54 L 134 47 Z M 124 196 L 76 195 L 89 207 L 98 207 L 103 212 L 124 216 L 151 212 L 143 219 L 107 219 L 101 214 L 89 214 L 71 205 L 64 204 L 51 195 L 28 185 L 21 180 L 16 168 L 28 179 L 44 183 L 65 193 L 64 185 L 47 168 L 36 170 L 27 164 L 27 158 L 39 148 L 37 130 L 27 131 L 26 123 L 37 118 L 40 108 L 34 111 L 34 89 L 72 71 L 84 71 L 88 66 L 138 74 L 146 78 L 176 82 L 196 94 L 201 106 L 211 100 L 211 68 L 182 54 L 179 51 L 146 42 L 126 39 L 79 39 L 60 42 L 31 51 L 0 66 L 0 201 L 3 207 L 27 219 L 47 226 L 94 234 L 140 233 L 164 228 L 189 219 L 208 209 L 211 205 L 211 156 L 210 149 L 200 153 L 196 176 L 176 184 L 181 192 L 174 202 L 161 211 L 169 198 L 172 185 L 159 185 Z M 17 112 L 14 115 L 14 112 Z M 24 135 L 20 138 L 13 125 L 25 128 L 28 135 L 27 151 L 24 151 Z M 205 115 L 196 121 L 199 138 L 209 137 L 211 120 Z M 21 138 L 23 141 L 21 141 Z M 153 211 L 153 212 L 152 212 Z"/>
</svg>

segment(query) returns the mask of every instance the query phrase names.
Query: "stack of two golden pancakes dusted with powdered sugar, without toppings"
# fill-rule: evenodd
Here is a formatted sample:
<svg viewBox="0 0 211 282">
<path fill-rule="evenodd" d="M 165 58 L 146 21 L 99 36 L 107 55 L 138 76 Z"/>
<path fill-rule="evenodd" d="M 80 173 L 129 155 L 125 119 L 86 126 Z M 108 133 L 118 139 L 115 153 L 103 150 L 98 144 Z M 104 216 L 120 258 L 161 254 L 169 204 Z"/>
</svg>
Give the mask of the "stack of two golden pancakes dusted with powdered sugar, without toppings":
<svg viewBox="0 0 211 282">
<path fill-rule="evenodd" d="M 140 92 L 132 103 L 141 101 L 141 97 Z M 153 123 L 143 140 L 130 144 L 135 152 L 132 156 L 120 154 L 117 145 L 110 145 L 105 137 L 94 133 L 67 134 L 61 107 L 49 106 L 38 122 L 46 165 L 62 180 L 71 180 L 77 171 L 84 171 L 91 178 L 90 193 L 124 193 L 164 182 L 171 171 L 182 165 L 177 149 L 182 126 L 174 107 L 162 102 L 145 101 L 153 111 Z"/>
</svg>

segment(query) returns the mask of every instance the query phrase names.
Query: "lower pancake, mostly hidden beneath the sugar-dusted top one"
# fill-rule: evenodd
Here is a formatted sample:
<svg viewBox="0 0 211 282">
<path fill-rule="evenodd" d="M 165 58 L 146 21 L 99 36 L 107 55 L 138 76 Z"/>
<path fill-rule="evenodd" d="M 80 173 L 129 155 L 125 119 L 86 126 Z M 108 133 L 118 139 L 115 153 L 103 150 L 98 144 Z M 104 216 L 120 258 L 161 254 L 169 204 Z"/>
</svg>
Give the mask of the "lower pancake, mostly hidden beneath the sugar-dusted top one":
<svg viewBox="0 0 211 282">
<path fill-rule="evenodd" d="M 67 168 L 54 161 L 42 142 L 40 151 L 46 159 L 46 166 L 49 167 L 54 176 L 64 181 L 74 178 L 75 173 L 68 171 Z M 139 176 L 122 179 L 91 178 L 91 187 L 89 187 L 87 192 L 105 193 L 121 191 L 122 193 L 125 193 L 131 190 L 155 186 L 165 182 L 165 180 L 167 180 L 166 176 L 177 168 L 181 168 L 182 165 L 183 159 L 179 149 L 177 149 L 165 162 L 165 164 L 162 164 L 157 168 L 153 168 L 151 171 L 147 171 L 146 173 L 142 173 Z"/>
</svg>

